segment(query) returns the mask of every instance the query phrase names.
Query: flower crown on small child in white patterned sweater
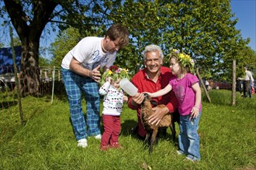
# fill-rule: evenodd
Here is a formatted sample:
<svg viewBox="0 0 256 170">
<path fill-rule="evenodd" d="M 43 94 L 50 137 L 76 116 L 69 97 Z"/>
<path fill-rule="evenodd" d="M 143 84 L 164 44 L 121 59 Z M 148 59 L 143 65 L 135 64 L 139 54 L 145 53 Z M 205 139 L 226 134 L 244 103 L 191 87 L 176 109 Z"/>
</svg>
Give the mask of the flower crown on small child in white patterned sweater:
<svg viewBox="0 0 256 170">
<path fill-rule="evenodd" d="M 106 83 L 106 77 L 112 77 L 112 80 L 114 81 L 123 79 L 123 78 L 130 80 L 130 76 L 128 75 L 128 70 L 123 68 L 118 68 L 118 66 L 116 65 L 110 66 L 109 69 L 102 74 L 102 79 L 100 80 L 101 86 L 103 83 Z"/>
</svg>

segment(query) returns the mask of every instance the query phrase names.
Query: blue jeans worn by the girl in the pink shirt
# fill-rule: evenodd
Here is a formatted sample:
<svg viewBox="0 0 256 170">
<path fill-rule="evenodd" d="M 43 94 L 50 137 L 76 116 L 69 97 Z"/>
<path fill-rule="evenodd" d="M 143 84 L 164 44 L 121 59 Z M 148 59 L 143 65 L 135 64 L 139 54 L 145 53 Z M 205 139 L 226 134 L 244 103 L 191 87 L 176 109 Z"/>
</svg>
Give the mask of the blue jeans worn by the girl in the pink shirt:
<svg viewBox="0 0 256 170">
<path fill-rule="evenodd" d="M 180 133 L 178 134 L 179 151 L 182 154 L 187 155 L 187 157 L 192 158 L 194 161 L 199 161 L 201 159 L 199 152 L 200 138 L 197 133 L 201 114 L 200 111 L 199 116 L 192 121 L 190 120 L 191 115 L 180 115 Z"/>
</svg>

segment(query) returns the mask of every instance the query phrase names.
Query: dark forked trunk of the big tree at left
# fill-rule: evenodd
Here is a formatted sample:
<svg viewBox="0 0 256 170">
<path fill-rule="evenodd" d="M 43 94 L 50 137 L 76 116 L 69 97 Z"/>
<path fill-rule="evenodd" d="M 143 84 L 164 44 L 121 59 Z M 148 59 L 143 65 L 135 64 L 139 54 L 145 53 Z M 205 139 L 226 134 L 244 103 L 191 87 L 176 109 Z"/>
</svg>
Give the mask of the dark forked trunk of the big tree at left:
<svg viewBox="0 0 256 170">
<path fill-rule="evenodd" d="M 43 0 L 31 2 L 4 0 L 4 2 L 12 25 L 22 42 L 22 70 L 19 73 L 21 90 L 31 94 L 37 93 L 40 80 L 38 70 L 40 36 L 52 17 L 57 2 Z M 31 13 L 26 14 L 26 12 Z"/>
</svg>

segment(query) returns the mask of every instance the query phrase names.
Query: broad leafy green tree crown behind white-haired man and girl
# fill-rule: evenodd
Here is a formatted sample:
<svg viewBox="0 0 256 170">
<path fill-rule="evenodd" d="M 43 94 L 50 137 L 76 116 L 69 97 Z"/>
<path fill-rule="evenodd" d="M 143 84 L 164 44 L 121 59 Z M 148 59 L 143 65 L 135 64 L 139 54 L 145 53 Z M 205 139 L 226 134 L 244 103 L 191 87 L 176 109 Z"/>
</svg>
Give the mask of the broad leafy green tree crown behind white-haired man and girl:
<svg viewBox="0 0 256 170">
<path fill-rule="evenodd" d="M 223 79 L 232 77 L 232 61 L 248 43 L 232 17 L 229 0 L 124 1 L 108 15 L 129 27 L 134 50 L 125 57 L 133 63 L 142 63 L 140 52 L 155 43 L 165 56 L 171 48 L 180 49 L 195 59 L 203 76 Z"/>
</svg>

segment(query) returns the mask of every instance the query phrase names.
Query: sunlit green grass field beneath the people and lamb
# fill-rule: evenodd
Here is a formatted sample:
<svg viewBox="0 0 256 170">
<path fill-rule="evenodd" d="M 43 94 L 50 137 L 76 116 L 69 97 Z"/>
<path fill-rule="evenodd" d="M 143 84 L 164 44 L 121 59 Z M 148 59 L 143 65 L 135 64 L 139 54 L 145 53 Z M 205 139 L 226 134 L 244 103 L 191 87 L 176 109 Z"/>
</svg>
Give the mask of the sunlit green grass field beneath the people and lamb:
<svg viewBox="0 0 256 170">
<path fill-rule="evenodd" d="M 149 155 L 143 141 L 130 134 L 137 115 L 126 105 L 119 136 L 124 149 L 99 151 L 100 141 L 95 138 L 88 138 L 88 148 L 77 147 L 66 97 L 55 96 L 53 104 L 50 97 L 22 98 L 26 120 L 22 126 L 17 101 L 2 96 L 0 169 L 256 169 L 255 95 L 243 99 L 237 93 L 236 107 L 230 106 L 230 90 L 211 90 L 209 95 L 212 104 L 202 97 L 202 160 L 196 163 L 176 154 L 169 129 L 167 138 L 161 138 Z"/>
</svg>

